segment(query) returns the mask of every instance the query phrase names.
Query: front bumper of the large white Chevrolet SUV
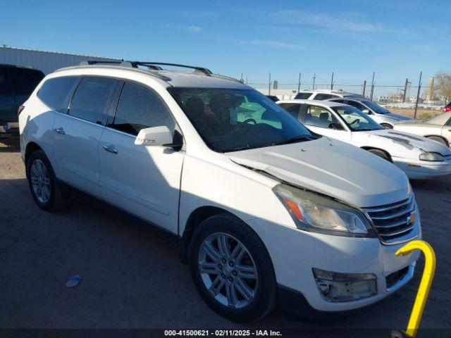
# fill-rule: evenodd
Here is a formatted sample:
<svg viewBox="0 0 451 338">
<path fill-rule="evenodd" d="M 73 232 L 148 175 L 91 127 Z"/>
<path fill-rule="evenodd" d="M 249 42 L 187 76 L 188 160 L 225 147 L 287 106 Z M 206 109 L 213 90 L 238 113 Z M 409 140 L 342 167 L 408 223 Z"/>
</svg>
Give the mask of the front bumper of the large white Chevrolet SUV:
<svg viewBox="0 0 451 338">
<path fill-rule="evenodd" d="M 380 301 L 412 279 L 414 262 L 419 258 L 418 252 L 395 256 L 404 244 L 385 246 L 378 238 L 304 232 L 259 218 L 248 223 L 266 244 L 278 285 L 285 290 L 283 294 L 287 290 L 301 294 L 315 311 L 348 311 Z M 327 301 L 316 286 L 312 268 L 337 273 L 372 273 L 377 277 L 377 294 L 355 301 Z M 390 280 L 388 285 L 387 277 L 405 268 L 407 273 L 395 283 Z"/>
</svg>

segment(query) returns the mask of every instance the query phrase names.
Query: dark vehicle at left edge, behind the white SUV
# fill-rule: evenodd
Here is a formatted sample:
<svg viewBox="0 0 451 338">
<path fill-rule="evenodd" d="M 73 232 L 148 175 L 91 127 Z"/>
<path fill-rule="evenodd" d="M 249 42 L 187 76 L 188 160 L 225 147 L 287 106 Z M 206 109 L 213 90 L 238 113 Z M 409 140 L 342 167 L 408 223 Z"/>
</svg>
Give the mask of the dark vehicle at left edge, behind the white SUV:
<svg viewBox="0 0 451 338">
<path fill-rule="evenodd" d="M 18 108 L 43 78 L 40 70 L 0 65 L 0 133 L 18 132 Z"/>
</svg>

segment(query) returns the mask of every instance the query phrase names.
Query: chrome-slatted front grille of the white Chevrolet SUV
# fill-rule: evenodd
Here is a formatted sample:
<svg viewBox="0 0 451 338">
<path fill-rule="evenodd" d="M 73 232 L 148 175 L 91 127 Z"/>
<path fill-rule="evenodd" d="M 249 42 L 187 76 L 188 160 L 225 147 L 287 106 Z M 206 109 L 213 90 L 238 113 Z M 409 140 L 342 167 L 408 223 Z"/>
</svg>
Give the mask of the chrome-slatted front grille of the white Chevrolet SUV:
<svg viewBox="0 0 451 338">
<path fill-rule="evenodd" d="M 373 221 L 383 244 L 405 242 L 416 234 L 415 199 L 408 199 L 385 206 L 365 208 L 364 211 Z"/>
</svg>

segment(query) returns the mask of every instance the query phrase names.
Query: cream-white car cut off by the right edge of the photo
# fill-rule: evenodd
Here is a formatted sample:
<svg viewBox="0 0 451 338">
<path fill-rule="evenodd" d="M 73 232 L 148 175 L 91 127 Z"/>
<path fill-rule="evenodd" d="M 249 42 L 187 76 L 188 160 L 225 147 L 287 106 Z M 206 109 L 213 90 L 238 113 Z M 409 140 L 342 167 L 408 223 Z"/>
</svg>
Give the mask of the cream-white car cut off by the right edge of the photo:
<svg viewBox="0 0 451 338">
<path fill-rule="evenodd" d="M 433 139 L 445 146 L 451 144 L 451 111 L 443 113 L 424 121 L 407 121 L 404 123 L 396 123 L 395 130 L 401 132 L 410 132 L 412 134 L 421 135 L 428 139 Z"/>
</svg>

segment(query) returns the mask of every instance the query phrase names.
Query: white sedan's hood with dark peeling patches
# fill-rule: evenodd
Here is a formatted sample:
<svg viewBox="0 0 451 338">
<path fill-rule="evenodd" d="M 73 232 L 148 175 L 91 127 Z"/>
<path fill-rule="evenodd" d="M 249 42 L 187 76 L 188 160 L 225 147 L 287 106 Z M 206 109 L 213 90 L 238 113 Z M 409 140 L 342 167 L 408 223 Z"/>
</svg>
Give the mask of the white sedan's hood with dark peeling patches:
<svg viewBox="0 0 451 338">
<path fill-rule="evenodd" d="M 362 134 L 361 134 L 362 133 Z M 378 145 L 381 149 L 387 149 L 390 152 L 394 146 L 400 148 L 399 150 L 402 152 L 402 156 L 404 158 L 418 158 L 418 155 L 409 156 L 409 152 L 407 150 L 417 149 L 420 152 L 433 152 L 442 154 L 443 156 L 451 155 L 451 151 L 447 146 L 440 144 L 438 142 L 431 141 L 431 139 L 426 139 L 426 137 L 418 136 L 415 134 L 409 134 L 408 132 L 400 132 L 392 129 L 383 129 L 383 130 L 373 130 L 371 132 L 353 132 L 352 139 L 354 137 L 360 138 L 360 142 L 363 142 L 364 137 L 371 138 L 371 144 L 369 146 Z M 376 138 L 376 139 L 375 139 Z M 357 139 L 356 139 L 357 141 Z M 367 139 L 368 141 L 368 139 Z"/>
</svg>

